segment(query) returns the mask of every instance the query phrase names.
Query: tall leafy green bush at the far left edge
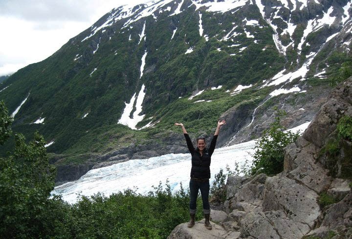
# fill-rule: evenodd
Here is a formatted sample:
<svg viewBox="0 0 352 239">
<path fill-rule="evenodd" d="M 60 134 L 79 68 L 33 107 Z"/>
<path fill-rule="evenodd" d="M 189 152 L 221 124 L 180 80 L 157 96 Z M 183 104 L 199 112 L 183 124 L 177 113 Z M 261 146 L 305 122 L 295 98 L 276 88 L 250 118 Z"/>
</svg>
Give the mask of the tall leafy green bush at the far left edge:
<svg viewBox="0 0 352 239">
<path fill-rule="evenodd" d="M 0 103 L 1 140 L 10 137 L 11 119 Z M 2 141 L 4 142 L 4 141 Z M 15 135 L 15 149 L 0 158 L 0 235 L 3 238 L 42 238 L 47 199 L 54 189 L 55 168 L 49 165 L 44 138 L 38 132 L 25 143 Z"/>
</svg>

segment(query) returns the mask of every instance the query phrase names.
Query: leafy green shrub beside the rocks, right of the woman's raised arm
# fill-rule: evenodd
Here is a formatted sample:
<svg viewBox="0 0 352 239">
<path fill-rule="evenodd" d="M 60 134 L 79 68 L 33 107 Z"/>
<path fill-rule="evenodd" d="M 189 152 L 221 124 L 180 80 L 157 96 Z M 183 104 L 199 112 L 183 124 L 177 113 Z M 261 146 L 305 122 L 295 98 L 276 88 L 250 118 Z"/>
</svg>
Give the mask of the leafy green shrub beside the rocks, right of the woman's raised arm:
<svg viewBox="0 0 352 239">
<path fill-rule="evenodd" d="M 264 130 L 264 136 L 256 141 L 252 174 L 274 175 L 283 171 L 284 148 L 294 142 L 299 135 L 290 131 L 284 132 L 285 128 L 280 124 L 280 119 L 285 114 L 286 112 L 277 110 L 270 128 Z"/>
</svg>

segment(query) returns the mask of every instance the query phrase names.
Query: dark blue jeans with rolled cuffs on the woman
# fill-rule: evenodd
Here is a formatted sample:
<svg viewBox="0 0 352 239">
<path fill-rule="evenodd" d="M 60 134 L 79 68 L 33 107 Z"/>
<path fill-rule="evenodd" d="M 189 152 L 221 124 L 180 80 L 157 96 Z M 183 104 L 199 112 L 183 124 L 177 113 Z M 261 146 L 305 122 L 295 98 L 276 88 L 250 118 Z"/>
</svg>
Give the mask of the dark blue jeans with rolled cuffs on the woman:
<svg viewBox="0 0 352 239">
<path fill-rule="evenodd" d="M 190 180 L 190 213 L 196 214 L 197 210 L 197 197 L 198 191 L 203 202 L 203 214 L 210 214 L 210 205 L 209 205 L 209 179 L 198 180 L 191 178 Z"/>
</svg>

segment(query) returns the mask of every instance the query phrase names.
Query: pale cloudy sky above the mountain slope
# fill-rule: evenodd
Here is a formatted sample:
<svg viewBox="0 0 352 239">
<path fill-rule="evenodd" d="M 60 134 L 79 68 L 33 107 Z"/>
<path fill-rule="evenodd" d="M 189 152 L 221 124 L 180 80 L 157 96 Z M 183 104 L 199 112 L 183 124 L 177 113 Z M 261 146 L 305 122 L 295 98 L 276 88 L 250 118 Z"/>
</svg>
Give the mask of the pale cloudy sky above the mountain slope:
<svg viewBox="0 0 352 239">
<path fill-rule="evenodd" d="M 0 0 L 0 76 L 46 59 L 123 4 L 126 0 Z"/>
</svg>

